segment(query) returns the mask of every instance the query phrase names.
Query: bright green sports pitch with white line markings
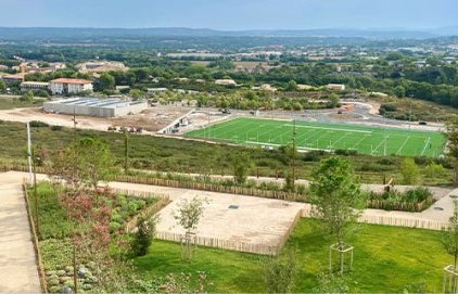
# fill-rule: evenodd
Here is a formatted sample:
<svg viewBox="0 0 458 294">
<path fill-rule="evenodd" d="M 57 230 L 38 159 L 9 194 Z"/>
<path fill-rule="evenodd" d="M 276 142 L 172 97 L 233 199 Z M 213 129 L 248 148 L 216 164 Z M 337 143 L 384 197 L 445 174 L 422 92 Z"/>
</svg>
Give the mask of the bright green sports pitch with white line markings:
<svg viewBox="0 0 458 294">
<path fill-rule="evenodd" d="M 234 118 L 186 136 L 270 149 L 290 143 L 294 129 L 298 150 L 440 156 L 445 146 L 444 135 L 434 131 L 256 118 Z"/>
</svg>

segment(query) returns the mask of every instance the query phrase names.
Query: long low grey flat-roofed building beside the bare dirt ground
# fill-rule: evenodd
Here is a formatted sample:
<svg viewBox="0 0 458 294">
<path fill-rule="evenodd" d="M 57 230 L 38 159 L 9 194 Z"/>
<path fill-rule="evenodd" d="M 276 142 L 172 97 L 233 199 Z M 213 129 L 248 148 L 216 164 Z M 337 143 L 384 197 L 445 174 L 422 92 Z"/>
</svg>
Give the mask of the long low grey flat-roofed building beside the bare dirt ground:
<svg viewBox="0 0 458 294">
<path fill-rule="evenodd" d="M 148 108 L 147 101 L 124 101 L 119 99 L 73 98 L 44 102 L 48 113 L 76 114 L 86 116 L 116 117 L 141 113 Z"/>
</svg>

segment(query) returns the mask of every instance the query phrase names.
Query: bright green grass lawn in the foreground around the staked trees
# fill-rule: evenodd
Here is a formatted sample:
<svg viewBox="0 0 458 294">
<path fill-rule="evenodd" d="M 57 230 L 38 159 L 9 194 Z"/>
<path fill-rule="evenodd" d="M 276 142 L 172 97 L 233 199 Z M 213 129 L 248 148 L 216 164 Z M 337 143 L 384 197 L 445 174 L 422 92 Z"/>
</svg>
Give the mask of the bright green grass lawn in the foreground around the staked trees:
<svg viewBox="0 0 458 294">
<path fill-rule="evenodd" d="M 297 250 L 298 274 L 294 292 L 310 292 L 317 273 L 326 271 L 330 235 L 318 222 L 303 219 L 285 248 Z M 402 293 L 406 286 L 425 282 L 428 291 L 442 290 L 442 269 L 453 261 L 442 248 L 440 232 L 361 225 L 349 242 L 355 246 L 352 292 Z M 200 247 L 190 264 L 180 260 L 176 243 L 156 241 L 145 257 L 137 258 L 147 279 L 169 272 L 205 271 L 212 292 L 265 292 L 264 265 L 269 257 Z"/>
</svg>

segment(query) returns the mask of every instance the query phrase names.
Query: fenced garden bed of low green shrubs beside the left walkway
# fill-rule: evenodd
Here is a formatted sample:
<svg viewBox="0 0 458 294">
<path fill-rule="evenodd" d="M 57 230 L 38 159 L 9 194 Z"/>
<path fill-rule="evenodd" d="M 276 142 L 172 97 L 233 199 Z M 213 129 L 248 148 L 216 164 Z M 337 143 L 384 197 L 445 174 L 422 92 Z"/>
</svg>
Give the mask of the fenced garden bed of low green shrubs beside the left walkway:
<svg viewBox="0 0 458 294">
<path fill-rule="evenodd" d="M 81 226 L 78 221 L 69 217 L 68 208 L 65 207 L 59 196 L 59 190 L 62 187 L 56 187 L 50 182 L 41 182 L 37 186 L 38 195 L 38 214 L 39 226 L 37 235 L 39 239 L 39 248 L 41 253 L 42 264 L 46 271 L 46 280 L 48 291 L 51 293 L 62 293 L 64 287 L 74 287 L 74 270 L 77 272 L 78 292 L 93 292 L 107 291 L 102 283 L 99 282 L 100 269 L 94 260 L 86 254 L 85 251 L 74 252 L 75 246 L 90 247 L 85 245 L 84 238 L 92 238 L 87 233 L 86 226 Z M 112 192 L 111 192 L 112 193 Z M 36 200 L 34 196 L 34 188 L 28 188 L 28 202 L 30 204 L 30 212 L 35 219 L 36 215 Z M 161 208 L 156 204 L 162 203 L 163 199 L 154 197 L 139 197 L 127 194 L 113 194 L 107 199 L 107 206 L 98 207 L 96 210 L 103 210 L 110 208 L 109 233 L 113 234 L 116 240 L 110 241 L 110 254 L 113 256 L 119 254 L 117 243 L 114 241 L 128 241 L 129 234 L 126 233 L 127 225 L 131 225 L 131 220 L 151 208 Z M 84 202 L 79 203 L 86 205 Z M 99 212 L 97 212 L 99 213 Z M 103 212 L 102 212 L 103 213 Z M 85 234 L 87 233 L 87 234 Z M 79 241 L 75 241 L 76 235 L 81 235 Z M 77 245 L 76 243 L 77 242 Z M 75 265 L 74 268 L 74 258 Z M 112 270 L 110 267 L 105 269 Z M 128 270 L 128 269 L 126 269 Z M 82 290 L 82 291 L 81 291 Z"/>
</svg>

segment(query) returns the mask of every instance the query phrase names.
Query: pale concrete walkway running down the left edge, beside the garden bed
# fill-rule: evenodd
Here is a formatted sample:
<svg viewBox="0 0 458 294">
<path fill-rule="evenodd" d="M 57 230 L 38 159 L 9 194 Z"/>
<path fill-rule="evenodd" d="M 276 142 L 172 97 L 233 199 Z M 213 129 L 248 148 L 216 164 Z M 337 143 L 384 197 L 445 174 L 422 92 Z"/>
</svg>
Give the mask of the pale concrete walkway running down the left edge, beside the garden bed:
<svg viewBox="0 0 458 294">
<path fill-rule="evenodd" d="M 21 183 L 0 174 L 0 293 L 41 293 Z"/>
</svg>

